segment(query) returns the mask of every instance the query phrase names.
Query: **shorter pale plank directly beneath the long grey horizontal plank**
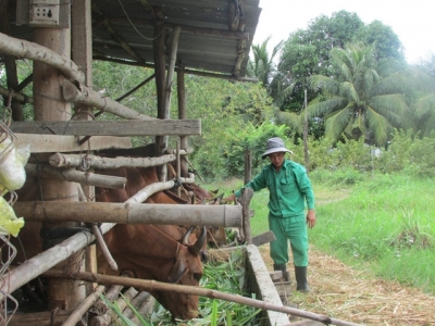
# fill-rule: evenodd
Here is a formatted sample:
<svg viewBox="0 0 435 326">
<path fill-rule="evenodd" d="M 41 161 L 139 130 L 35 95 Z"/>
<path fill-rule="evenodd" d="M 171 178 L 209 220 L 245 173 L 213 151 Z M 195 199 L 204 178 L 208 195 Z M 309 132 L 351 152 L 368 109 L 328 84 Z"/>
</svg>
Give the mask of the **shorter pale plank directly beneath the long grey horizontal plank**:
<svg viewBox="0 0 435 326">
<path fill-rule="evenodd" d="M 32 153 L 47 152 L 79 152 L 111 148 L 132 148 L 127 137 L 95 136 L 84 145 L 77 143 L 77 137 L 63 135 L 15 134 L 18 138 L 16 146 L 29 145 Z"/>
</svg>

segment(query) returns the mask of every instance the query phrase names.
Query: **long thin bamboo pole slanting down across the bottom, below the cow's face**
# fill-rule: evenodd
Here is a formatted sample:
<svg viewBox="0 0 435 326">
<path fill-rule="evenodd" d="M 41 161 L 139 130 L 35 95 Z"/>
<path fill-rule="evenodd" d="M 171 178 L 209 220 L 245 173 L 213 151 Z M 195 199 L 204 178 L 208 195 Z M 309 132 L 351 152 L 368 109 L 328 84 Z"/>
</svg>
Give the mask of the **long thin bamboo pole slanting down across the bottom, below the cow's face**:
<svg viewBox="0 0 435 326">
<path fill-rule="evenodd" d="M 141 290 L 146 290 L 146 291 L 171 291 L 171 292 L 177 292 L 177 293 L 201 296 L 201 297 L 207 297 L 207 298 L 211 298 L 211 299 L 220 299 L 220 300 L 236 302 L 236 303 L 240 303 L 240 304 L 245 304 L 245 305 L 249 305 L 249 306 L 254 306 L 254 308 L 258 308 L 261 310 L 277 311 L 277 312 L 282 312 L 282 313 L 286 313 L 286 314 L 291 314 L 291 315 L 298 316 L 298 317 L 309 318 L 309 319 L 316 321 L 316 322 L 324 323 L 324 324 L 334 324 L 337 326 L 358 326 L 359 325 L 359 324 L 355 324 L 355 323 L 350 323 L 350 322 L 332 318 L 332 317 L 328 317 L 325 315 L 320 315 L 316 313 L 303 311 L 303 310 L 296 309 L 296 308 L 277 305 L 277 304 L 272 304 L 272 303 L 261 301 L 261 300 L 241 297 L 239 294 L 225 293 L 225 292 L 210 290 L 210 289 L 195 287 L 195 286 L 167 284 L 167 283 L 157 281 L 153 279 L 151 280 L 151 279 L 139 279 L 139 278 L 125 278 L 125 277 L 109 276 L 109 275 L 102 275 L 102 274 L 92 274 L 92 273 L 86 273 L 86 272 L 80 272 L 80 273 L 77 273 L 74 275 L 65 275 L 62 271 L 59 271 L 59 269 L 48 271 L 47 273 L 45 273 L 44 276 L 59 277 L 59 278 L 73 278 L 73 279 L 79 279 L 79 280 L 85 280 L 85 281 L 97 281 L 98 284 L 104 284 L 104 285 L 123 285 L 123 286 L 134 287 L 136 289 L 141 289 Z"/>
</svg>

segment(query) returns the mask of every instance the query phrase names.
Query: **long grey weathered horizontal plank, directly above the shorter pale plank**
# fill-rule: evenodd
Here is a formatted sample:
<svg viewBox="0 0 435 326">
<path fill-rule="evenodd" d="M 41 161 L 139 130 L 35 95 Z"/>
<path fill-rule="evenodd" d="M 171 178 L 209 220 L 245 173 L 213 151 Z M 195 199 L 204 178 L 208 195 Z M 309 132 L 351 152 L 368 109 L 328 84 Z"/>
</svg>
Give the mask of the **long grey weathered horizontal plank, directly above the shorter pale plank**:
<svg viewBox="0 0 435 326">
<path fill-rule="evenodd" d="M 11 130 L 22 134 L 73 136 L 201 135 L 200 120 L 145 121 L 32 121 L 13 122 Z"/>
</svg>

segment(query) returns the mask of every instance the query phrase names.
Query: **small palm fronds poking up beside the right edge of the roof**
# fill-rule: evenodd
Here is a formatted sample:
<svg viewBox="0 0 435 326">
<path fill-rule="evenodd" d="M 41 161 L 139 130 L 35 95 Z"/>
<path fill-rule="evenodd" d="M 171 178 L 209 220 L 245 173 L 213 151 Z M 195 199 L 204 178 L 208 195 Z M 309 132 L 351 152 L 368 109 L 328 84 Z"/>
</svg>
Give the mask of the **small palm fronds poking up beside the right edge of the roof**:
<svg viewBox="0 0 435 326">
<path fill-rule="evenodd" d="M 283 41 L 273 48 L 272 54 L 269 57 L 268 42 L 271 37 L 268 37 L 261 45 L 252 45 L 253 61 L 248 62 L 248 75 L 257 77 L 264 87 L 269 88 L 273 74 L 276 71 L 273 60 L 283 47 Z"/>
</svg>

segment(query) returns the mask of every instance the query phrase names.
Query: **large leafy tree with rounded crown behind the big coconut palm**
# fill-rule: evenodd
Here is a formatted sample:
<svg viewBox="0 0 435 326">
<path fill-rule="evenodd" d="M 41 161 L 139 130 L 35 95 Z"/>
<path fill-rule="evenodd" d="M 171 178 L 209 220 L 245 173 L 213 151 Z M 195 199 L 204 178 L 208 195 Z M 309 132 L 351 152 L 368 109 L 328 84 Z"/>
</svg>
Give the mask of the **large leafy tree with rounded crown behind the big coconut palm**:
<svg viewBox="0 0 435 326">
<path fill-rule="evenodd" d="M 304 90 L 309 101 L 316 97 L 315 89 L 308 88 L 307 78 L 336 75 L 330 51 L 359 39 L 374 46 L 377 59 L 402 58 L 401 43 L 390 27 L 380 22 L 365 26 L 356 13 L 347 11 L 335 12 L 331 17 L 321 15 L 310 22 L 307 29 L 290 34 L 271 83 L 271 95 L 279 109 L 299 113 Z"/>
</svg>

